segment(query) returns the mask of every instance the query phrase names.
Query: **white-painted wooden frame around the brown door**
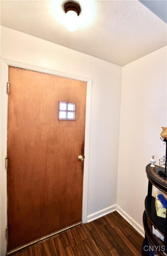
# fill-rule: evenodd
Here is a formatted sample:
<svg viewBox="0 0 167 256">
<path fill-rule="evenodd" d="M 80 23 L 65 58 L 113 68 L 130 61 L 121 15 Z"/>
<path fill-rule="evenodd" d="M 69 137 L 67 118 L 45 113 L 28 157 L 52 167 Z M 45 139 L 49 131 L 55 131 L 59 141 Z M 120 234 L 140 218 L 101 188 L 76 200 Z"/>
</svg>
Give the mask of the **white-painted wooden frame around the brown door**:
<svg viewBox="0 0 167 256">
<path fill-rule="evenodd" d="M 91 122 L 91 96 L 92 96 L 92 79 L 81 77 L 69 73 L 51 70 L 48 68 L 38 67 L 9 59 L 2 59 L 1 67 L 1 89 L 0 89 L 0 123 L 1 123 L 1 255 L 7 251 L 6 227 L 7 227 L 7 172 L 5 169 L 5 158 L 7 156 L 7 114 L 8 114 L 8 94 L 7 82 L 9 66 L 37 71 L 41 73 L 71 78 L 87 82 L 86 86 L 86 113 L 85 113 L 85 141 L 84 141 L 84 179 L 83 179 L 83 209 L 82 221 L 87 222 L 87 202 L 88 202 L 88 173 L 89 173 L 89 151 L 90 151 L 90 122 Z M 10 92 L 9 92 L 10 93 Z"/>
</svg>

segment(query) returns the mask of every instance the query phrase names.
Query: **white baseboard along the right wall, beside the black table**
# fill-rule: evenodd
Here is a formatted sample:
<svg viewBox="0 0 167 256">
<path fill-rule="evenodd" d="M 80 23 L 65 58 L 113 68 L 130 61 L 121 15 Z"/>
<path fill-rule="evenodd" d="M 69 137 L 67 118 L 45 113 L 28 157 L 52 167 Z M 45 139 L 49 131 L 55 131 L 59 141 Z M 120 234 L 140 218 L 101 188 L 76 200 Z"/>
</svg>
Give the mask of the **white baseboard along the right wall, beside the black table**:
<svg viewBox="0 0 167 256">
<path fill-rule="evenodd" d="M 144 237 L 144 228 L 133 220 L 122 208 L 116 206 L 116 211 L 132 226 L 137 232 Z"/>
</svg>

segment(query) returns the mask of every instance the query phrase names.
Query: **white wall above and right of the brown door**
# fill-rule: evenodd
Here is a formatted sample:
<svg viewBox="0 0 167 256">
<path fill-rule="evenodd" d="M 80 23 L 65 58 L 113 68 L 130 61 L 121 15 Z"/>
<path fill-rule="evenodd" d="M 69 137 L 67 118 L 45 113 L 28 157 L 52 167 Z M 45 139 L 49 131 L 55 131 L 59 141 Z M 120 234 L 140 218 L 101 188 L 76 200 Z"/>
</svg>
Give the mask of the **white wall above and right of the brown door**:
<svg viewBox="0 0 167 256">
<path fill-rule="evenodd" d="M 1 57 L 92 79 L 88 218 L 110 210 L 116 204 L 122 68 L 5 27 Z"/>
</svg>

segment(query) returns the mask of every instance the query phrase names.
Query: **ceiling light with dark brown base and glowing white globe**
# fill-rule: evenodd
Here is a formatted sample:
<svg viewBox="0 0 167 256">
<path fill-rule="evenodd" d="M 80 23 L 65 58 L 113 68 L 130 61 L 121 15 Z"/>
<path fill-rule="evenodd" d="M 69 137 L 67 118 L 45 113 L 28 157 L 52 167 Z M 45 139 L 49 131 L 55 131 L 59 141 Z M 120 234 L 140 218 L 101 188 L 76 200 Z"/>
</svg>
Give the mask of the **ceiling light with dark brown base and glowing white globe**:
<svg viewBox="0 0 167 256">
<path fill-rule="evenodd" d="M 80 6 L 75 2 L 67 2 L 64 5 L 66 13 L 66 27 L 69 31 L 75 31 L 78 28 L 78 16 L 80 14 Z"/>
</svg>

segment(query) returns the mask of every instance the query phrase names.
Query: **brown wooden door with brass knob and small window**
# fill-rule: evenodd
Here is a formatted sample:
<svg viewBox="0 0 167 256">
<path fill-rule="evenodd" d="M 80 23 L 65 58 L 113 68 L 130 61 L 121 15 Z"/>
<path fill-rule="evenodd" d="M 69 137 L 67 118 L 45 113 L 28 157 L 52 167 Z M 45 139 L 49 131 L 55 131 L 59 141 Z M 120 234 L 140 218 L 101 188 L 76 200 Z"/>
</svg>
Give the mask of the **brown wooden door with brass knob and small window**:
<svg viewBox="0 0 167 256">
<path fill-rule="evenodd" d="M 9 67 L 8 250 L 82 220 L 86 83 Z M 58 120 L 58 101 L 76 120 Z"/>
</svg>

